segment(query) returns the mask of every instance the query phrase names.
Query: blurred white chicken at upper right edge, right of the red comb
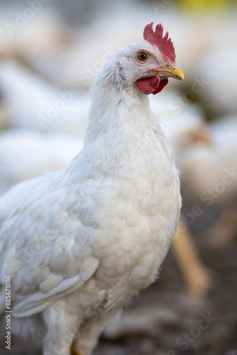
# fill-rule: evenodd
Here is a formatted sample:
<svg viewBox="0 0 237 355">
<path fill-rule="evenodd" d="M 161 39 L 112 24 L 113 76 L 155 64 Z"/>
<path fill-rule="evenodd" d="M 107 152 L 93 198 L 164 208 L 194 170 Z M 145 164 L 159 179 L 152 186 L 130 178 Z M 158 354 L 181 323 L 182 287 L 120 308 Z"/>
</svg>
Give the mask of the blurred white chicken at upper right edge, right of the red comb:
<svg viewBox="0 0 237 355">
<path fill-rule="evenodd" d="M 216 18 L 211 43 L 195 65 L 197 76 L 204 77 L 208 82 L 200 97 L 212 117 L 237 112 L 236 32 L 234 13 L 225 18 Z"/>
</svg>

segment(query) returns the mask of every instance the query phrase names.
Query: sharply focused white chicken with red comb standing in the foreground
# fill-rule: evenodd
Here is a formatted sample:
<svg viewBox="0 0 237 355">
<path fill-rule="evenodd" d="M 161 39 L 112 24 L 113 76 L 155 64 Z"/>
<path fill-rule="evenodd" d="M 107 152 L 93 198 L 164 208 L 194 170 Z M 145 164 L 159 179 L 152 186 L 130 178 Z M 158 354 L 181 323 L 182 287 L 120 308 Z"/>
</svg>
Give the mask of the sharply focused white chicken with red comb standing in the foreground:
<svg viewBox="0 0 237 355">
<path fill-rule="evenodd" d="M 152 283 L 180 214 L 172 148 L 146 94 L 184 80 L 162 26 L 116 51 L 92 87 L 84 148 L 0 199 L 0 309 L 43 354 L 89 355 L 109 318 Z M 9 307 L 9 306 L 8 306 Z"/>
</svg>

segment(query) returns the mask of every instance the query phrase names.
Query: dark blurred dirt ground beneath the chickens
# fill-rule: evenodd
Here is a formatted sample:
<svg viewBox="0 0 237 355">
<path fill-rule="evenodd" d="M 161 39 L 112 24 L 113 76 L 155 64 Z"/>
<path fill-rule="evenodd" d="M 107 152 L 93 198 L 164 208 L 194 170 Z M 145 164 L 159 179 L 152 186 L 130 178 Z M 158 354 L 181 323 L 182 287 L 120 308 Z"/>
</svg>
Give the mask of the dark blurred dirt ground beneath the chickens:
<svg viewBox="0 0 237 355">
<path fill-rule="evenodd" d="M 94 355 L 237 355 L 237 240 L 221 250 L 196 242 L 202 261 L 215 272 L 206 298 L 187 295 L 170 251 L 160 278 L 101 335 Z M 35 344 L 19 347 L 13 339 L 11 352 L 2 346 L 0 354 L 41 353 Z"/>
</svg>

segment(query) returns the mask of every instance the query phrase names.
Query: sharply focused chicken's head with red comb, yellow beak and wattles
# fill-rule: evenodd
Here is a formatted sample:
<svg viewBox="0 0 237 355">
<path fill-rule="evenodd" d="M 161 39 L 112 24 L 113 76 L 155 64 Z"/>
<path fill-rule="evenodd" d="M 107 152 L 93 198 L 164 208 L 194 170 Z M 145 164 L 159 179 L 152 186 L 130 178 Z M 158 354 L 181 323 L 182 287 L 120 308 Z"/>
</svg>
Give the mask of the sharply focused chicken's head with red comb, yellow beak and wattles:
<svg viewBox="0 0 237 355">
<path fill-rule="evenodd" d="M 145 26 L 144 42 L 135 42 L 124 48 L 120 60 L 120 74 L 128 84 L 137 85 L 143 94 L 157 94 L 168 82 L 168 77 L 184 81 L 184 73 L 175 62 L 175 48 L 162 36 L 159 24 L 153 31 L 153 23 Z"/>
</svg>

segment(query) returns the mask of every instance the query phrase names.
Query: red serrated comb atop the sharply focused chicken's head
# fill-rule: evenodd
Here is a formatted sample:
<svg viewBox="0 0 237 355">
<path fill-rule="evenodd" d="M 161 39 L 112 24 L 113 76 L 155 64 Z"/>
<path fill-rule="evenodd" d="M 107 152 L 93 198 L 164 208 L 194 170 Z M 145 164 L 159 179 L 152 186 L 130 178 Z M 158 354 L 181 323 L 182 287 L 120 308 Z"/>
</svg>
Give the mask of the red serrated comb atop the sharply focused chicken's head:
<svg viewBox="0 0 237 355">
<path fill-rule="evenodd" d="M 158 47 L 163 55 L 175 62 L 175 48 L 168 37 L 169 33 L 165 33 L 165 37 L 163 37 L 163 26 L 161 24 L 155 27 L 155 32 L 153 31 L 153 22 L 144 28 L 144 40 L 148 40 L 151 45 Z"/>
</svg>

